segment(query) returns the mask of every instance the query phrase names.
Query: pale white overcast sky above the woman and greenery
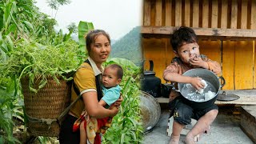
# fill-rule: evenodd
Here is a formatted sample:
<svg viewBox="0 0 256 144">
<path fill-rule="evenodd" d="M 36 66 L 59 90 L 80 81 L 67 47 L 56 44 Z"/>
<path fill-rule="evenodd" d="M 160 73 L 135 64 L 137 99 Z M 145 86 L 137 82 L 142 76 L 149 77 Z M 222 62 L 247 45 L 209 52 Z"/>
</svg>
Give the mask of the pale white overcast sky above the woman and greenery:
<svg viewBox="0 0 256 144">
<path fill-rule="evenodd" d="M 70 0 L 66 6 L 60 6 L 56 20 L 56 29 L 66 32 L 66 26 L 79 21 L 93 22 L 94 29 L 106 30 L 111 39 L 122 38 L 135 26 L 141 26 L 142 0 Z M 46 0 L 36 0 L 40 11 L 54 18 Z"/>
</svg>

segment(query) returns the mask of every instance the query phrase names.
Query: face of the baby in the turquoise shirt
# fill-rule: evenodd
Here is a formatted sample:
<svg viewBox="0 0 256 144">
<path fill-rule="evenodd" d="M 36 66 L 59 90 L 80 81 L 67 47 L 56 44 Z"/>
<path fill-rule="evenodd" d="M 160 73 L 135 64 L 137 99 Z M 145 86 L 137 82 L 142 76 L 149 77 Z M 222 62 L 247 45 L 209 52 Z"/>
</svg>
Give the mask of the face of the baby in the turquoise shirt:
<svg viewBox="0 0 256 144">
<path fill-rule="evenodd" d="M 117 76 L 118 71 L 116 69 L 112 69 L 110 67 L 106 67 L 103 72 L 102 84 L 106 88 L 117 86 L 121 79 Z"/>
</svg>

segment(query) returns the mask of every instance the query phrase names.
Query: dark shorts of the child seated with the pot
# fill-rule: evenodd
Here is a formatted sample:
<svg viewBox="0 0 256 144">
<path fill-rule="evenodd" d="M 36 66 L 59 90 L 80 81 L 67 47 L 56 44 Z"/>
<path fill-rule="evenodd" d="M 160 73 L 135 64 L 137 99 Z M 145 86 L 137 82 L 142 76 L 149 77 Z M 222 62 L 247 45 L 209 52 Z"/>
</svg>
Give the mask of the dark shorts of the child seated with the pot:
<svg viewBox="0 0 256 144">
<path fill-rule="evenodd" d="M 169 102 L 170 106 L 170 117 L 174 115 L 174 121 L 179 122 L 183 125 L 191 123 L 191 118 L 198 120 L 203 115 L 208 113 L 210 110 L 218 110 L 218 106 L 210 105 L 203 110 L 194 110 L 192 107 L 186 105 L 182 101 L 182 96 L 178 96 L 173 101 Z"/>
</svg>

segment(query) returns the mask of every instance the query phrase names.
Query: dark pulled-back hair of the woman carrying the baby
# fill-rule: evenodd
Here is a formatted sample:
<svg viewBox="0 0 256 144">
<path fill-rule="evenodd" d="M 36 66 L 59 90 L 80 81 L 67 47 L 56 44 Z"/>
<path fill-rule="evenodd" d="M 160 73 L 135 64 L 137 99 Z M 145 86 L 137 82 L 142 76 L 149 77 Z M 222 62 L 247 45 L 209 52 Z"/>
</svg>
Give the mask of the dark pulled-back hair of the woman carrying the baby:
<svg viewBox="0 0 256 144">
<path fill-rule="evenodd" d="M 95 39 L 98 37 L 98 35 L 101 35 L 101 34 L 106 36 L 106 38 L 111 43 L 110 35 L 107 34 L 106 31 L 104 31 L 104 30 L 90 30 L 85 36 L 85 38 L 86 38 L 86 50 L 87 50 L 89 55 L 90 55 L 90 46 L 91 46 L 91 44 L 94 44 Z"/>
</svg>

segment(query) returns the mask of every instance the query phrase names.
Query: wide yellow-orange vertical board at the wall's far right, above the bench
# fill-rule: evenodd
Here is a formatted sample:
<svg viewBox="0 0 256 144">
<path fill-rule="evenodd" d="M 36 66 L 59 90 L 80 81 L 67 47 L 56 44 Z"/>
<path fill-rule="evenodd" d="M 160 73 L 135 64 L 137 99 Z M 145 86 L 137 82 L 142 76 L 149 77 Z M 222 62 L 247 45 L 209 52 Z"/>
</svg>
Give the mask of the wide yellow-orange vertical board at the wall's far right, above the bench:
<svg viewBox="0 0 256 144">
<path fill-rule="evenodd" d="M 254 87 L 254 41 L 238 41 L 234 55 L 235 90 L 252 89 Z"/>
</svg>

